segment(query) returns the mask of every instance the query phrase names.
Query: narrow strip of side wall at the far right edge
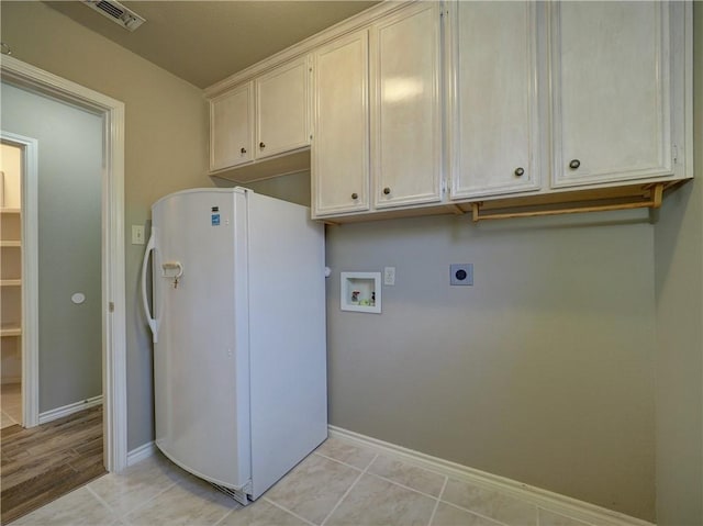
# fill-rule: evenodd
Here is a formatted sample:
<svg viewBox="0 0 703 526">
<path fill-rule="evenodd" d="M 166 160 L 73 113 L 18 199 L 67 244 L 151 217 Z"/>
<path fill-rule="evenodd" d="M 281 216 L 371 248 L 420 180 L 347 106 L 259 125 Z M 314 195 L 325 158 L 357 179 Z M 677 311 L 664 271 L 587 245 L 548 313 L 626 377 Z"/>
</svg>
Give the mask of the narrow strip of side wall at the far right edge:
<svg viewBox="0 0 703 526">
<path fill-rule="evenodd" d="M 694 3 L 696 179 L 672 192 L 655 228 L 657 519 L 703 524 L 703 4 Z"/>
</svg>

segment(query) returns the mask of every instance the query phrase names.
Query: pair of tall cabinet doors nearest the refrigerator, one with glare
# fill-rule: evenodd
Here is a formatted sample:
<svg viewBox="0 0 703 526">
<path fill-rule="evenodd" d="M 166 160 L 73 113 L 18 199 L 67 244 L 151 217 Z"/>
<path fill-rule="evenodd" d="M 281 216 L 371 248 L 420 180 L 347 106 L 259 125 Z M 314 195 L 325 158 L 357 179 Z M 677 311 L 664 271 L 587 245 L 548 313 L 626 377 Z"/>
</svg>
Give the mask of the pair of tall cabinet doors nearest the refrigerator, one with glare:
<svg viewBox="0 0 703 526">
<path fill-rule="evenodd" d="M 315 49 L 313 216 L 440 201 L 440 45 L 417 2 Z"/>
</svg>

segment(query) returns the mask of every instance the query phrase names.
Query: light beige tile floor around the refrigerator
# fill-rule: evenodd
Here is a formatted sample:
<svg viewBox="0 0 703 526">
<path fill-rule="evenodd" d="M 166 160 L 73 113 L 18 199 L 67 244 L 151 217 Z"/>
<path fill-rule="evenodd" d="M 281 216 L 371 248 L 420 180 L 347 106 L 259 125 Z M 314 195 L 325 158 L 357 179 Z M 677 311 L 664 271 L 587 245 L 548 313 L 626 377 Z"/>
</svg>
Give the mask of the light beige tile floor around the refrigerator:
<svg viewBox="0 0 703 526">
<path fill-rule="evenodd" d="M 246 507 L 155 454 L 11 524 L 587 526 L 336 438 Z"/>
</svg>

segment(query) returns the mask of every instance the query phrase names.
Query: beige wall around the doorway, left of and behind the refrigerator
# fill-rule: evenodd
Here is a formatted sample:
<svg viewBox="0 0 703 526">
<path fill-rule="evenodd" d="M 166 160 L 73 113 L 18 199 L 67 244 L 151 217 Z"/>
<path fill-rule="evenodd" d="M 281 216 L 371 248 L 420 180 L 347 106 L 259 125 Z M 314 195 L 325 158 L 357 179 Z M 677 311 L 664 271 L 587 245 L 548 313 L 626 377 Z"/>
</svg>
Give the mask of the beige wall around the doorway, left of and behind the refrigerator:
<svg viewBox="0 0 703 526">
<path fill-rule="evenodd" d="M 212 187 L 202 91 L 82 27 L 44 2 L 0 2 L 2 42 L 14 57 L 125 103 L 125 232 L 150 205 Z M 3 108 L 4 111 L 4 108 Z M 127 448 L 154 439 L 152 340 L 138 293 L 144 246 L 125 238 Z"/>
</svg>

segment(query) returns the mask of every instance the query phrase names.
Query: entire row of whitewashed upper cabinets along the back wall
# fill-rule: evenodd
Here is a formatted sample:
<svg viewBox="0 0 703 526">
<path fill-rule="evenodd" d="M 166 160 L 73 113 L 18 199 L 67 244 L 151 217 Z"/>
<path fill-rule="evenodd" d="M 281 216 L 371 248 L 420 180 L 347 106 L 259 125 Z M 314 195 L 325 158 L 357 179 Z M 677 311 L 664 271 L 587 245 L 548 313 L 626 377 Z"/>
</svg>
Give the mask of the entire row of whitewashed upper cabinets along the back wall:
<svg viewBox="0 0 703 526">
<path fill-rule="evenodd" d="M 365 13 L 207 91 L 213 172 L 310 169 L 312 215 L 328 221 L 656 208 L 692 177 L 691 2 Z M 490 213 L 513 206 L 531 210 Z"/>
</svg>

